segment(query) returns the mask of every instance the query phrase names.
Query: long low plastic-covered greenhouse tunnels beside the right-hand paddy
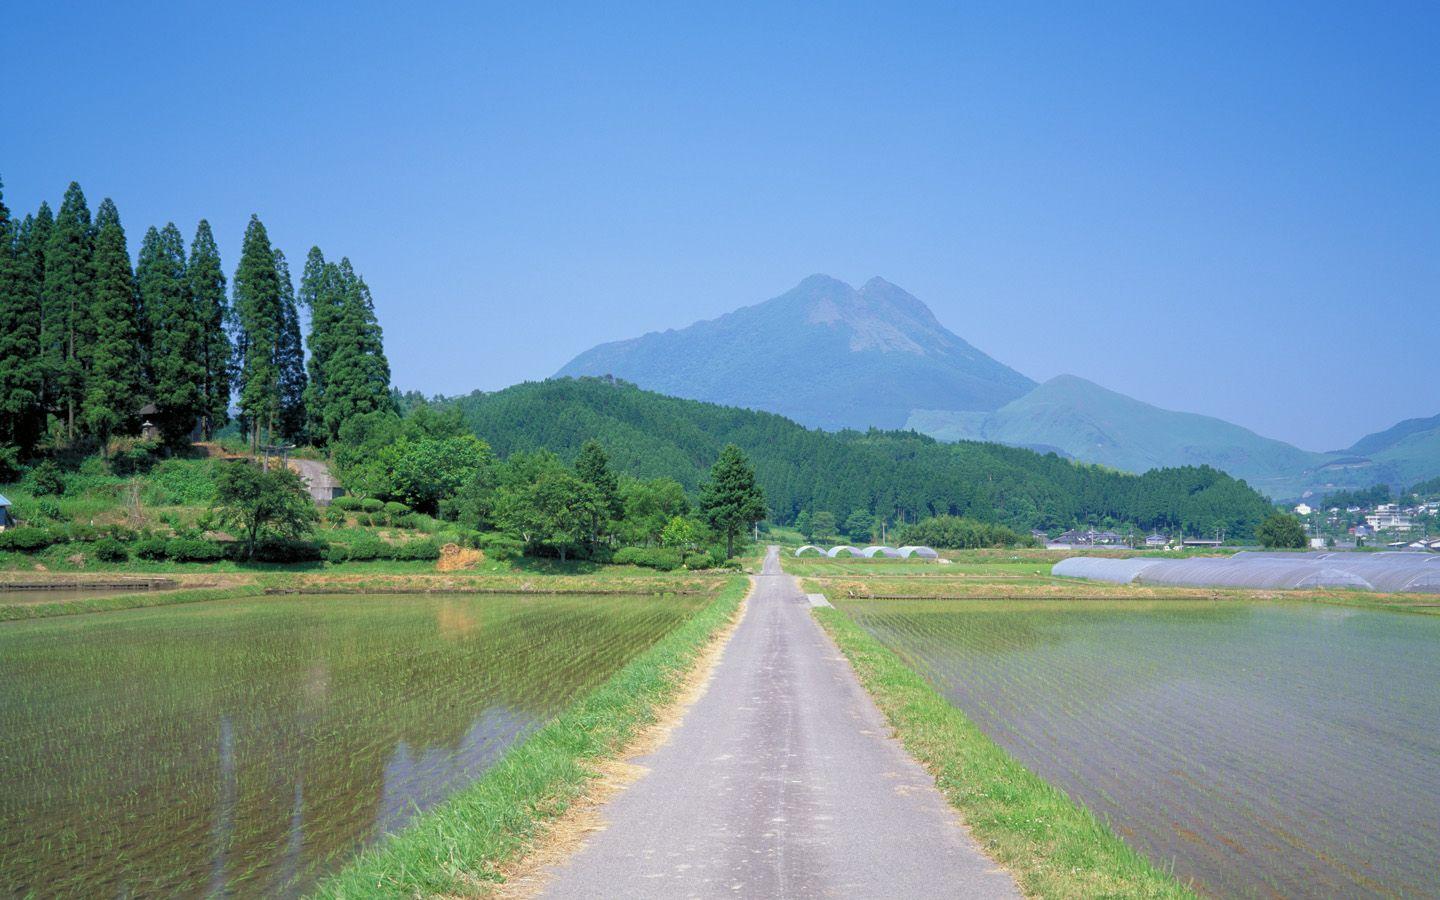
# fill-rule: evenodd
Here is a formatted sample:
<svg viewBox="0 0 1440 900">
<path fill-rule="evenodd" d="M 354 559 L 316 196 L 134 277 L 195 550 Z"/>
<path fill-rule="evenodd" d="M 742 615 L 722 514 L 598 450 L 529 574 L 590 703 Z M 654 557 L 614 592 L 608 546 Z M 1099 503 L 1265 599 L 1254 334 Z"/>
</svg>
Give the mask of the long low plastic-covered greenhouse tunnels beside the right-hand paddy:
<svg viewBox="0 0 1440 900">
<path fill-rule="evenodd" d="M 1054 575 L 1120 585 L 1185 588 L 1352 588 L 1440 593 L 1440 556 L 1430 553 L 1237 553 L 1194 559 L 1071 557 Z"/>
</svg>

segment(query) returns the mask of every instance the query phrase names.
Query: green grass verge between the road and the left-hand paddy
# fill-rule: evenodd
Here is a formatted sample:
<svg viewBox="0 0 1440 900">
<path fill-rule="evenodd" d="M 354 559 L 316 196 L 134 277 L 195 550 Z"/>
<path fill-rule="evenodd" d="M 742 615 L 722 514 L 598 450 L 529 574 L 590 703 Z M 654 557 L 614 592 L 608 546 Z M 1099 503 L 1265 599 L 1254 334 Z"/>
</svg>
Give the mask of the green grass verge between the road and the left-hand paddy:
<svg viewBox="0 0 1440 900">
<path fill-rule="evenodd" d="M 484 891 L 675 696 L 710 638 L 734 615 L 749 580 L 732 577 L 713 602 L 632 660 L 599 690 L 513 747 L 478 782 L 356 857 L 317 897 L 416 897 Z"/>
</svg>

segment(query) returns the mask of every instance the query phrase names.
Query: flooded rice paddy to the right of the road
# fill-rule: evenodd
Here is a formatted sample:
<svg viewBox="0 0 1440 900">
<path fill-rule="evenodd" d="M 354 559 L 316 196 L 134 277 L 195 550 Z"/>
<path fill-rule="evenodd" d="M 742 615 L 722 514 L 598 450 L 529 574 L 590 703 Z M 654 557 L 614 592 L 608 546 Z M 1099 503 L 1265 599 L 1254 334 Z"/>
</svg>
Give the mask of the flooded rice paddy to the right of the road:
<svg viewBox="0 0 1440 900">
<path fill-rule="evenodd" d="M 1300 603 L 841 603 L 1201 893 L 1440 897 L 1440 618 Z"/>
</svg>

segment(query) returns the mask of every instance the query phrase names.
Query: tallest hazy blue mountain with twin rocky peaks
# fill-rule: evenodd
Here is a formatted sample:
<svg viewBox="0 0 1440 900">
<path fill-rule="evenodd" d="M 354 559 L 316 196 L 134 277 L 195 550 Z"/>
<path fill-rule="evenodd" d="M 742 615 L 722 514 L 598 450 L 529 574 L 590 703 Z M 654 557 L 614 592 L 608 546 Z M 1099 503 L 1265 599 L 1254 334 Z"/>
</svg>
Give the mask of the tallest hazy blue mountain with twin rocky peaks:
<svg viewBox="0 0 1440 900">
<path fill-rule="evenodd" d="M 557 374 L 612 374 L 827 429 L 900 428 L 916 408 L 988 412 L 1034 387 L 896 285 L 871 278 L 857 291 L 828 275 L 687 328 L 600 344 Z"/>
</svg>

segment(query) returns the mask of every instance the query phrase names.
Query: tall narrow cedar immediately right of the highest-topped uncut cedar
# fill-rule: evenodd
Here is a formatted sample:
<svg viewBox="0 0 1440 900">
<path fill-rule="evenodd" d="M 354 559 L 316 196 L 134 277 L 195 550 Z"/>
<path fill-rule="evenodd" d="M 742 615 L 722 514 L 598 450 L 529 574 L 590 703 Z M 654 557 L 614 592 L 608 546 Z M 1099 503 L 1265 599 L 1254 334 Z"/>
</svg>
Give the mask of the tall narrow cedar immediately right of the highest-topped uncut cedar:
<svg viewBox="0 0 1440 900">
<path fill-rule="evenodd" d="M 95 279 L 91 285 L 91 350 L 85 376 L 84 420 L 99 439 L 125 431 L 141 393 L 140 324 L 135 321 L 135 275 L 120 210 L 105 197 L 95 210 Z"/>
</svg>

